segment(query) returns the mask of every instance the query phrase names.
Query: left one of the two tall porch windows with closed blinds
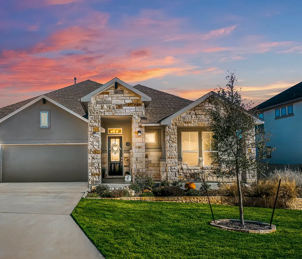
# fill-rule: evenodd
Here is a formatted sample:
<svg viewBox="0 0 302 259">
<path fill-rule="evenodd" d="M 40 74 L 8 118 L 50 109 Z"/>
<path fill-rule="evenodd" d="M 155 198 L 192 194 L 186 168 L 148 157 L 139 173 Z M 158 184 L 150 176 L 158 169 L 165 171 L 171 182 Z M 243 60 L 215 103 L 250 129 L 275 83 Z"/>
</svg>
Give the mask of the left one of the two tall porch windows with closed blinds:
<svg viewBox="0 0 302 259">
<path fill-rule="evenodd" d="M 182 161 L 188 166 L 198 166 L 198 160 L 198 132 L 182 131 Z"/>
</svg>

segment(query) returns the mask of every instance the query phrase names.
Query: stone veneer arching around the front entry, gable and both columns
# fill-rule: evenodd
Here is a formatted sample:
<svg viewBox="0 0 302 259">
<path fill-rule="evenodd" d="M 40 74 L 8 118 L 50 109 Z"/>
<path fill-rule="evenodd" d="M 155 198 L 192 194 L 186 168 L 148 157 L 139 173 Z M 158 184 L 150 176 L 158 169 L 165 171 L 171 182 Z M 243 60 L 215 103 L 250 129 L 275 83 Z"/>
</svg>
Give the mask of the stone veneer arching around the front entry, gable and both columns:
<svg viewBox="0 0 302 259">
<path fill-rule="evenodd" d="M 145 107 L 140 97 L 121 86 L 117 89 L 113 86 L 92 98 L 92 103 L 88 104 L 88 182 L 90 186 L 101 183 L 101 116 L 132 116 L 130 170 L 133 174 L 146 171 L 145 129 L 140 119 L 144 115 Z M 140 137 L 137 136 L 138 130 L 141 131 Z M 92 136 L 94 131 L 97 133 L 96 137 Z"/>
</svg>

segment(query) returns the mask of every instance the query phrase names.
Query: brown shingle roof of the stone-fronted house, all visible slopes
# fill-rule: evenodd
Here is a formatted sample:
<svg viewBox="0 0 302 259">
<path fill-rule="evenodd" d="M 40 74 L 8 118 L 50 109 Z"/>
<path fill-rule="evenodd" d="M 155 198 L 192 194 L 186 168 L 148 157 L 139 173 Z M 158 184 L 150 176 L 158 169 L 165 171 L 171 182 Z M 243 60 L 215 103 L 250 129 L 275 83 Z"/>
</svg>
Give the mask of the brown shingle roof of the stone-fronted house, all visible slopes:
<svg viewBox="0 0 302 259">
<path fill-rule="evenodd" d="M 102 84 L 91 80 L 86 80 L 46 93 L 45 95 L 61 105 L 64 105 L 66 108 L 76 112 L 77 114 L 84 116 L 85 111 L 82 108 L 79 99 L 95 89 L 98 89 L 100 86 L 102 86 Z M 140 84 L 133 87 L 152 98 L 152 101 L 145 109 L 145 116 L 147 118 L 147 120 L 143 120 L 145 123 L 157 123 L 163 118 L 175 113 L 176 111 L 179 111 L 193 102 L 176 95 L 171 95 L 147 86 L 142 86 Z M 23 105 L 26 105 L 35 98 L 37 97 L 0 108 L 0 119 L 22 107 Z"/>
</svg>

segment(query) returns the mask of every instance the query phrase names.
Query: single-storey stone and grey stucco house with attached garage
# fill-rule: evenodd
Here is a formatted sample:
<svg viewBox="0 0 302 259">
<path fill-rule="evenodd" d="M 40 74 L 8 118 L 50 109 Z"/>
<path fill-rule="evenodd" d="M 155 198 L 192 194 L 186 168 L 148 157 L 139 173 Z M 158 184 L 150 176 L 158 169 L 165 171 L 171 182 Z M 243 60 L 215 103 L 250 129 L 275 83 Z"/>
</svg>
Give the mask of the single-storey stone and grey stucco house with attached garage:
<svg viewBox="0 0 302 259">
<path fill-rule="evenodd" d="M 178 179 L 180 162 L 190 170 L 213 164 L 210 94 L 190 101 L 114 78 L 0 108 L 0 180 L 91 186 L 121 181 L 127 172 Z"/>
</svg>

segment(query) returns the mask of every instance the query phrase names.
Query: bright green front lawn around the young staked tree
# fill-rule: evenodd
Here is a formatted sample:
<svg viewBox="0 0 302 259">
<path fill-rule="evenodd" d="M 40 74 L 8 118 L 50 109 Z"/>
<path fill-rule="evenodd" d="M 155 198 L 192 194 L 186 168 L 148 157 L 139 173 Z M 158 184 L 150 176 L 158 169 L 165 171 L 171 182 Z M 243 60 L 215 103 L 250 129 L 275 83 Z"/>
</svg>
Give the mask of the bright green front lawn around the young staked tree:
<svg viewBox="0 0 302 259">
<path fill-rule="evenodd" d="M 212 206 L 217 219 L 239 217 L 238 207 Z M 271 212 L 244 208 L 246 220 L 269 222 Z M 276 209 L 270 234 L 211 227 L 208 204 L 82 199 L 71 215 L 106 259 L 302 256 L 302 211 Z"/>
</svg>

